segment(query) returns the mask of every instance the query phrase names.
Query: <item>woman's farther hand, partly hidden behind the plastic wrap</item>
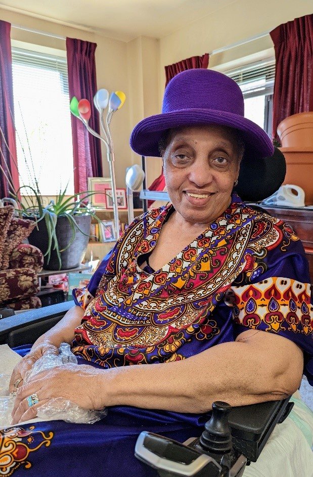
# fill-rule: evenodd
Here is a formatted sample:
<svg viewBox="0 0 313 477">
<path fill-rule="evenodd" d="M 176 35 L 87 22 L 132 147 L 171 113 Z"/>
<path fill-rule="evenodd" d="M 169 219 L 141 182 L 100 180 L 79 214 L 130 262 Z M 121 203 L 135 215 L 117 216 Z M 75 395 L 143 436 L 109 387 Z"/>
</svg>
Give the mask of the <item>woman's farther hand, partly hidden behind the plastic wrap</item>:
<svg viewBox="0 0 313 477">
<path fill-rule="evenodd" d="M 30 350 L 30 353 L 21 359 L 21 361 L 15 366 L 11 376 L 9 385 L 10 393 L 16 392 L 17 389 L 23 385 L 23 380 L 27 371 L 29 371 L 32 365 L 46 353 L 58 355 L 59 351 L 53 344 L 43 342 L 37 346 L 34 345 Z"/>
</svg>

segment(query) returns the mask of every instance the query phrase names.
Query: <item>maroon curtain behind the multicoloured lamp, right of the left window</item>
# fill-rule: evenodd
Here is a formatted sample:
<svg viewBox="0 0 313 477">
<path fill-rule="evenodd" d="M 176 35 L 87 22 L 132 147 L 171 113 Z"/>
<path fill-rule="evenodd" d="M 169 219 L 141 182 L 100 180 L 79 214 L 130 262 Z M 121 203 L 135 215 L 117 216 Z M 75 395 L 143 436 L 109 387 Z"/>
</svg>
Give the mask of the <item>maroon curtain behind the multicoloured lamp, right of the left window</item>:
<svg viewBox="0 0 313 477">
<path fill-rule="evenodd" d="M 91 104 L 89 125 L 99 134 L 99 116 L 93 98 L 97 92 L 95 50 L 97 45 L 90 41 L 66 38 L 68 86 L 70 98 L 85 98 Z M 88 177 L 102 177 L 100 140 L 87 132 L 83 123 L 71 115 L 74 190 L 75 193 L 87 190 Z"/>
</svg>

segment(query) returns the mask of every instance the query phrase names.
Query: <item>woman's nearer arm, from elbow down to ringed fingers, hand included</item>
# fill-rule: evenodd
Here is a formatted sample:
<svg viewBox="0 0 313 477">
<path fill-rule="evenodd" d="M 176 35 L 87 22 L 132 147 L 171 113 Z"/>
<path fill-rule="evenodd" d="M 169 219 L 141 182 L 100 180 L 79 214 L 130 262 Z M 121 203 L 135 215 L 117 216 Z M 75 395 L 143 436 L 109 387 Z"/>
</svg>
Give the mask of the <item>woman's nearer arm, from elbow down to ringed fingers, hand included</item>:
<svg viewBox="0 0 313 477">
<path fill-rule="evenodd" d="M 302 351 L 273 333 L 248 330 L 182 361 L 109 370 L 62 366 L 33 376 L 17 394 L 13 423 L 31 419 L 36 407 L 63 397 L 85 409 L 136 406 L 176 412 L 209 411 L 214 401 L 232 406 L 282 399 L 298 388 Z M 27 396 L 39 404 L 29 408 Z"/>
</svg>

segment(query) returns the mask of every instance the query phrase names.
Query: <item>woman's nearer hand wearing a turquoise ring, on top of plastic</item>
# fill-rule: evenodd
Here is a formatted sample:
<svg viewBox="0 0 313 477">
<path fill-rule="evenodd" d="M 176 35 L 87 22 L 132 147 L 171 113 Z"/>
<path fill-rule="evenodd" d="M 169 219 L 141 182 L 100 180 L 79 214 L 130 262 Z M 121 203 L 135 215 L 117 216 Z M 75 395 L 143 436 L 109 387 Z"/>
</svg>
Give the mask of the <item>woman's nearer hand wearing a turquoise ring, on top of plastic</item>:
<svg viewBox="0 0 313 477">
<path fill-rule="evenodd" d="M 88 365 L 62 365 L 42 371 L 18 388 L 12 411 L 12 424 L 33 419 L 37 408 L 50 399 L 63 398 L 83 409 L 103 409 L 103 382 L 106 372 Z M 38 396 L 39 403 L 29 407 L 27 397 Z"/>
</svg>

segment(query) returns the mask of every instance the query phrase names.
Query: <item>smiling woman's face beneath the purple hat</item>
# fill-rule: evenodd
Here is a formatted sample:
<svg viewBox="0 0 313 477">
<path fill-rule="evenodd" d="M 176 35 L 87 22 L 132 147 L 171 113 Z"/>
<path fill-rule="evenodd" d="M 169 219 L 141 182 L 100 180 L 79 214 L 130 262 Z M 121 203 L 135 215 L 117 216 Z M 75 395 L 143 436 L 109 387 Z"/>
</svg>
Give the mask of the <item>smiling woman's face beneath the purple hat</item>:
<svg viewBox="0 0 313 477">
<path fill-rule="evenodd" d="M 193 224 L 208 225 L 229 206 L 242 151 L 223 126 L 173 129 L 163 155 L 169 198 Z"/>
</svg>

